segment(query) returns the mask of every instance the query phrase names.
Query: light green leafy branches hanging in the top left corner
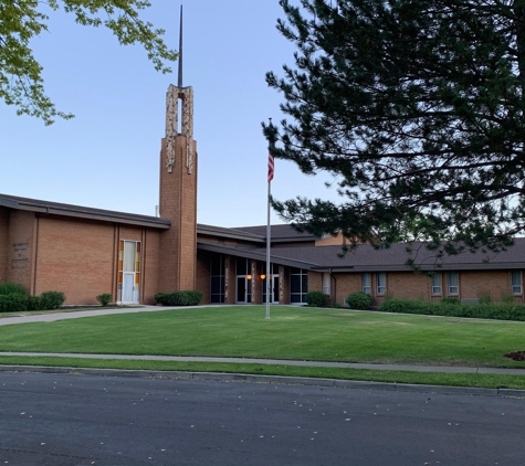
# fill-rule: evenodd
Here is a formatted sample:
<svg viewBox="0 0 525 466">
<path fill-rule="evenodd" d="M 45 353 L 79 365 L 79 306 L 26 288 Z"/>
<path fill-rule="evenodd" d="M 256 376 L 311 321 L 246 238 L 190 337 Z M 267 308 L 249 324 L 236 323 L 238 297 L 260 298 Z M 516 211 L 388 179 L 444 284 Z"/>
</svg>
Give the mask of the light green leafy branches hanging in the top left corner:
<svg viewBox="0 0 525 466">
<path fill-rule="evenodd" d="M 150 7 L 143 0 L 0 0 L 0 99 L 14 105 L 19 115 L 42 118 L 46 125 L 55 117 L 72 118 L 55 108 L 46 96 L 42 66 L 33 56 L 31 41 L 48 31 L 43 8 L 63 8 L 82 25 L 108 28 L 122 45 L 138 43 L 155 70 L 169 73 L 166 62 L 177 59 L 162 40 L 165 33 L 140 20 L 139 12 Z"/>
</svg>

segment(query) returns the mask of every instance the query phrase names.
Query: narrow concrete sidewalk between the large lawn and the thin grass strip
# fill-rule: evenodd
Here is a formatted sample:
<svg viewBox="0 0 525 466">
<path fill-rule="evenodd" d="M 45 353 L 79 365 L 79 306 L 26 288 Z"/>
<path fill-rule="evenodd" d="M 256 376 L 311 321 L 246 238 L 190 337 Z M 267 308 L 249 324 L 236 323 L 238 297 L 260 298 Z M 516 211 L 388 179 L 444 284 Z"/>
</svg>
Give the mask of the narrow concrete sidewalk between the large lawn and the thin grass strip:
<svg viewBox="0 0 525 466">
<path fill-rule="evenodd" d="M 356 362 L 328 362 L 328 361 L 294 361 L 287 359 L 249 359 L 249 358 L 208 358 L 190 356 L 139 356 L 139 354 L 92 354 L 92 353 L 63 353 L 63 352 L 0 352 L 2 356 L 18 357 L 48 357 L 48 358 L 78 358 L 78 359 L 117 359 L 140 361 L 176 361 L 176 362 L 233 362 L 241 364 L 270 364 L 270 366 L 300 366 L 315 368 L 342 369 L 369 369 L 380 371 L 412 371 L 412 372 L 444 372 L 444 373 L 493 373 L 506 375 L 525 375 L 525 369 L 498 368 L 469 368 L 451 366 L 398 366 L 398 364 L 364 364 Z"/>
</svg>

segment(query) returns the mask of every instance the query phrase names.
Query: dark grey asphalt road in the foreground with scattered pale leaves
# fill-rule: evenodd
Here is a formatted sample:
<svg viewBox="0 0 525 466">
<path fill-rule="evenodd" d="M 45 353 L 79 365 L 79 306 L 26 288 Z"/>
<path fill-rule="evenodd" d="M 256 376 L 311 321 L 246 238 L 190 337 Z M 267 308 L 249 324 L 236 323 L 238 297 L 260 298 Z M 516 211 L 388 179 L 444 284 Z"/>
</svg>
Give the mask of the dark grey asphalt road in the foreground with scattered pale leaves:
<svg viewBox="0 0 525 466">
<path fill-rule="evenodd" d="M 0 373 L 0 466 L 519 465 L 525 401 Z"/>
</svg>

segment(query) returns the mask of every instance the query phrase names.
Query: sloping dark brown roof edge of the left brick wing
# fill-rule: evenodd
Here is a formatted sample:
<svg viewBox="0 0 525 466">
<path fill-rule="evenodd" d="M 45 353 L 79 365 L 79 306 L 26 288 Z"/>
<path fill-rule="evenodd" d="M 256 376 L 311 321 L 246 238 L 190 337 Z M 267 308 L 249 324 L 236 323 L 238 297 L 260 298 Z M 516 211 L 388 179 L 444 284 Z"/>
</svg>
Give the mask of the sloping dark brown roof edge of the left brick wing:
<svg viewBox="0 0 525 466">
<path fill-rule="evenodd" d="M 134 213 L 86 208 L 82 205 L 62 204 L 59 202 L 48 202 L 7 194 L 0 194 L 0 206 L 43 213 L 45 215 L 73 216 L 76 219 L 99 220 L 102 222 L 149 226 L 160 230 L 168 230 L 171 226 L 170 220 L 160 219 L 157 216 L 138 215 Z"/>
</svg>

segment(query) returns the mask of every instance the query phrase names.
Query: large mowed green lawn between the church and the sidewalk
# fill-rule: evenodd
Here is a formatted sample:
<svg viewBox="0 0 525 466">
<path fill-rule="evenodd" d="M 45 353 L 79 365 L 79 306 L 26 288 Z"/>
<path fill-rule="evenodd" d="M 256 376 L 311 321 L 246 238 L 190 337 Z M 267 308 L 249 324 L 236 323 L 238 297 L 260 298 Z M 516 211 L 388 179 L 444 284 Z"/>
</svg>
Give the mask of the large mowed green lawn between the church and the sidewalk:
<svg viewBox="0 0 525 466">
<path fill-rule="evenodd" d="M 0 351 L 171 354 L 525 368 L 525 322 L 275 306 L 214 307 L 0 327 Z"/>
</svg>

